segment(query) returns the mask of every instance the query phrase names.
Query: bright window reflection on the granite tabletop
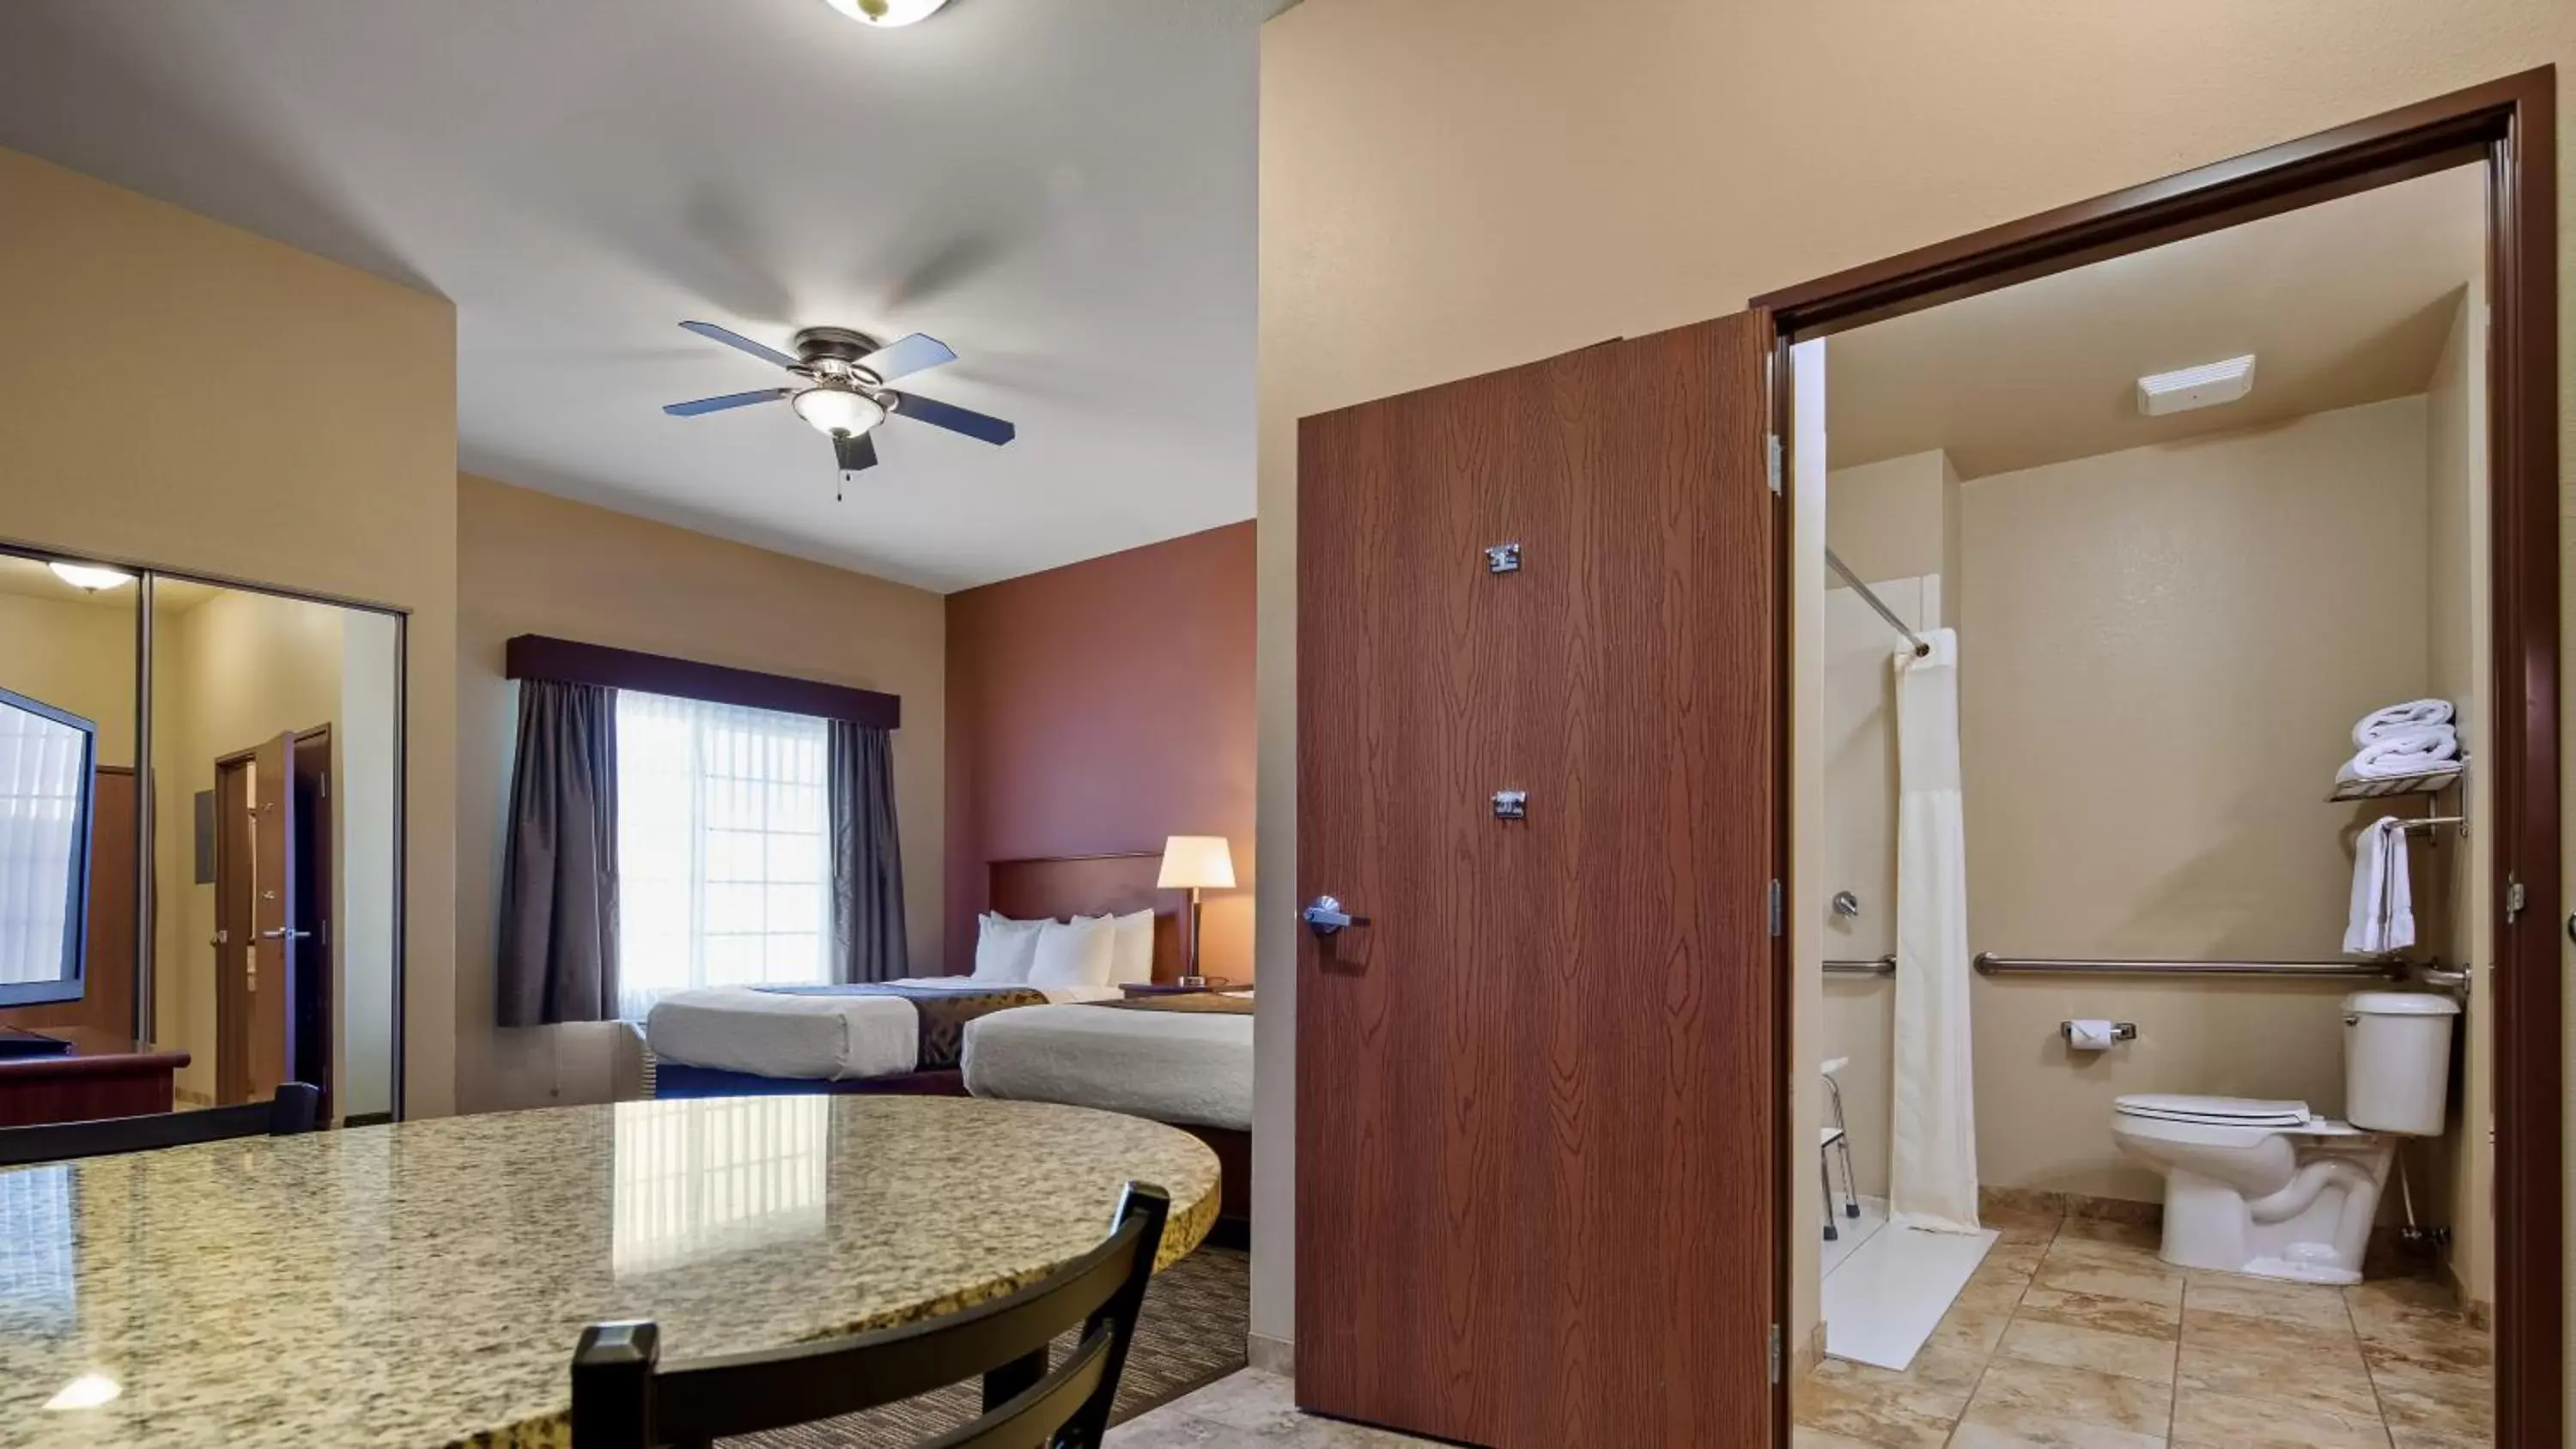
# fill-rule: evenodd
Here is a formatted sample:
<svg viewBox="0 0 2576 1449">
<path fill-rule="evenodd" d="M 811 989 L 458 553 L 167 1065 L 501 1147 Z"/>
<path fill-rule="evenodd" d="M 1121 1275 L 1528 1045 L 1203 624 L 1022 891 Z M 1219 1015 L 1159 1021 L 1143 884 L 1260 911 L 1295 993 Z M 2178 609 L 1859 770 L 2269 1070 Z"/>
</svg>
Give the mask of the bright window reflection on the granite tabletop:
<svg viewBox="0 0 2576 1449">
<path fill-rule="evenodd" d="M 829 1127 L 829 1096 L 621 1102 L 611 1271 L 819 1235 Z"/>
</svg>

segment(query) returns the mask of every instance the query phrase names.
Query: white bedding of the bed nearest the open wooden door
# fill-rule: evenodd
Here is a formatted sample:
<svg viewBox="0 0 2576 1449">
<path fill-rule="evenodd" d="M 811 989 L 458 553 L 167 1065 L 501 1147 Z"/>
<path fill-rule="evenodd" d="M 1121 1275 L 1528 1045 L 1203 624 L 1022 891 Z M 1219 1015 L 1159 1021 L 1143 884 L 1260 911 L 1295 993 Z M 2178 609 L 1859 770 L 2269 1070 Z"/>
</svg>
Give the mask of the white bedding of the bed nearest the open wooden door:
<svg viewBox="0 0 2576 1449">
<path fill-rule="evenodd" d="M 966 1024 L 966 1091 L 1249 1132 L 1249 999 L 1229 993 L 1242 1014 L 1025 1006 L 979 1017 Z"/>
</svg>

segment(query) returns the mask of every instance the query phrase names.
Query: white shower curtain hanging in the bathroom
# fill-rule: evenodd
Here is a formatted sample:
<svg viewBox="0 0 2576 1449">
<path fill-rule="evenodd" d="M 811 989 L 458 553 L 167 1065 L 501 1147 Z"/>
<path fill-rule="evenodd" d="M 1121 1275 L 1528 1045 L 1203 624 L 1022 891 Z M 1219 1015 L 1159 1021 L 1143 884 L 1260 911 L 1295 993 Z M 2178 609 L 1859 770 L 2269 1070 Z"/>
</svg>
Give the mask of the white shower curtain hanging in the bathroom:
<svg viewBox="0 0 2576 1449">
<path fill-rule="evenodd" d="M 1958 631 L 1896 651 L 1896 1109 L 1888 1220 L 1976 1233 L 1968 1063 L 1968 836 L 1958 775 Z"/>
</svg>

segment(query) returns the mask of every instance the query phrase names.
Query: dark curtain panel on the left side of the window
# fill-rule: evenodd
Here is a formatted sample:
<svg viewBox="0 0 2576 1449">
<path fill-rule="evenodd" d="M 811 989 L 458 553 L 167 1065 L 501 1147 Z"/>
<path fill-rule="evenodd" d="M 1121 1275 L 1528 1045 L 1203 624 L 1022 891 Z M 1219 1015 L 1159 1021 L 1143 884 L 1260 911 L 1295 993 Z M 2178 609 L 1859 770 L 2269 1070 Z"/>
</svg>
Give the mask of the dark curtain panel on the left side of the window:
<svg viewBox="0 0 2576 1449">
<path fill-rule="evenodd" d="M 616 690 L 520 679 L 500 880 L 500 1024 L 616 1014 Z"/>
</svg>

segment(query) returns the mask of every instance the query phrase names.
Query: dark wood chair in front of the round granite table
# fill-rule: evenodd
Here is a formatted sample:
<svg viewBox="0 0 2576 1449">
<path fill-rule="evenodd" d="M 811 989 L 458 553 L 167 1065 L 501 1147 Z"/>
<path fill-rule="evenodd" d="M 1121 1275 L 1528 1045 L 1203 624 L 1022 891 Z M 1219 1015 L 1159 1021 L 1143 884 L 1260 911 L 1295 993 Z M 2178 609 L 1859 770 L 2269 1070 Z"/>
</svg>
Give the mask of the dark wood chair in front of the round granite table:
<svg viewBox="0 0 2576 1449">
<path fill-rule="evenodd" d="M 1108 1434 L 1172 1199 L 1131 1181 L 1082 1261 L 976 1307 L 822 1343 L 659 1364 L 654 1323 L 598 1323 L 572 1354 L 572 1449 L 698 1449 L 881 1408 L 981 1374 L 984 1413 L 922 1449 L 1092 1449 Z M 1048 1343 L 1082 1341 L 1054 1369 Z"/>
</svg>

